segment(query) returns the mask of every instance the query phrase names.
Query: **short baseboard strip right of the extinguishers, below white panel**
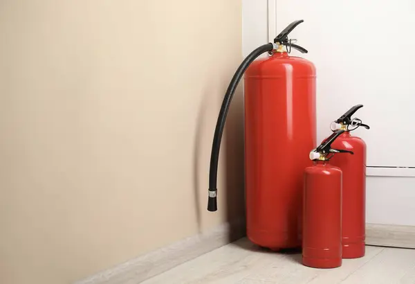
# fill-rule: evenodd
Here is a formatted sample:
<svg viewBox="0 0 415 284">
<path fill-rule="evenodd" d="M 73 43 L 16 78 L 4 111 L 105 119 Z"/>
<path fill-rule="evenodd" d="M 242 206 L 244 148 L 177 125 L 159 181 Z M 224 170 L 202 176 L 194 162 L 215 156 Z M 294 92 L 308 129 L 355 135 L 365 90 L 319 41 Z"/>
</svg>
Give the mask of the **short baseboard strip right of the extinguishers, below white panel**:
<svg viewBox="0 0 415 284">
<path fill-rule="evenodd" d="M 366 244 L 415 249 L 415 227 L 366 224 Z"/>
</svg>

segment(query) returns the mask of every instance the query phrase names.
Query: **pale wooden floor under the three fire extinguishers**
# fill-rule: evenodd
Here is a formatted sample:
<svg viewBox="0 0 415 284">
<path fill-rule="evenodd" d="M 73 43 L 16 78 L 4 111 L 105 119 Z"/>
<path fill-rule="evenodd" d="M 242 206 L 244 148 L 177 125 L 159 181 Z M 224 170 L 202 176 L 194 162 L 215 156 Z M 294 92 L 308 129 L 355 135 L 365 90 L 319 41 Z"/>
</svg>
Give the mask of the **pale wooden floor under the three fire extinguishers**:
<svg viewBox="0 0 415 284">
<path fill-rule="evenodd" d="M 414 284 L 415 249 L 366 247 L 366 256 L 342 267 L 313 269 L 301 254 L 278 254 L 246 238 L 183 263 L 143 284 Z"/>
</svg>

